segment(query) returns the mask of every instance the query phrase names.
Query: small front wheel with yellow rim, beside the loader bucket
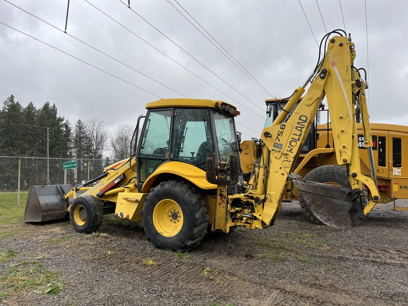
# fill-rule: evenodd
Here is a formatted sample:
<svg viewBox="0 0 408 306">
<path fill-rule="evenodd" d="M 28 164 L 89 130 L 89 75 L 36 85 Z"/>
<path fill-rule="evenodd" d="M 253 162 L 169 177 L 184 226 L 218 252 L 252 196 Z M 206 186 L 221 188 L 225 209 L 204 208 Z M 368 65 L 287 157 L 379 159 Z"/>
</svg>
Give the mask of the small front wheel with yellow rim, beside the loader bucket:
<svg viewBox="0 0 408 306">
<path fill-rule="evenodd" d="M 96 197 L 84 195 L 73 200 L 69 219 L 78 233 L 91 233 L 97 231 L 102 224 L 104 211 Z"/>
</svg>

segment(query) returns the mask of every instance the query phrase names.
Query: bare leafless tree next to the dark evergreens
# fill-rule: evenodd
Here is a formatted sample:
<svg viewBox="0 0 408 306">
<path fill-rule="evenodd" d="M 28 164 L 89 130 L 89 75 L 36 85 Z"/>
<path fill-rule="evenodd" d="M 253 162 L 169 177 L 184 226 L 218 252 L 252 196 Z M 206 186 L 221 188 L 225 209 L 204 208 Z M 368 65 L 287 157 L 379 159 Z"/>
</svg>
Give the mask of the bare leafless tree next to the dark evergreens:
<svg viewBox="0 0 408 306">
<path fill-rule="evenodd" d="M 91 158 L 102 159 L 109 139 L 109 131 L 105 120 L 92 117 L 85 121 L 85 125 L 91 141 Z"/>
</svg>

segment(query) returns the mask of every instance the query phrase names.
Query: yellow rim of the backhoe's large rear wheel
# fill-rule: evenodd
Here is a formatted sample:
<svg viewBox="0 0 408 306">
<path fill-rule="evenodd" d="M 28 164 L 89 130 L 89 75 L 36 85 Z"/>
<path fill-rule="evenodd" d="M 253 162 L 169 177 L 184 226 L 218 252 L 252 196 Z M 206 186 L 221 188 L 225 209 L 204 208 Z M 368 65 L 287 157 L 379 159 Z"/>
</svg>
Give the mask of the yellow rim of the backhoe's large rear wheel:
<svg viewBox="0 0 408 306">
<path fill-rule="evenodd" d="M 153 224 L 165 237 L 173 237 L 183 227 L 183 212 L 173 200 L 164 199 L 157 203 L 153 211 Z"/>
</svg>

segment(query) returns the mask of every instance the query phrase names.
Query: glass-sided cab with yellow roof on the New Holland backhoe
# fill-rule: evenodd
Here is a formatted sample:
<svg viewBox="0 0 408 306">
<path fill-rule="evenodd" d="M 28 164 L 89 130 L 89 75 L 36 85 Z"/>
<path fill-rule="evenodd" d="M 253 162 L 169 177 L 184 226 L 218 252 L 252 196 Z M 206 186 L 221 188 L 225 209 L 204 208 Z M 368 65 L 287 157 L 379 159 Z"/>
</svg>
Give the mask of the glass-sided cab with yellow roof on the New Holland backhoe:
<svg viewBox="0 0 408 306">
<path fill-rule="evenodd" d="M 168 105 L 168 107 L 166 107 Z M 139 187 L 162 163 L 177 161 L 206 171 L 206 158 L 239 158 L 236 108 L 214 100 L 162 99 L 146 106 L 137 150 Z"/>
</svg>

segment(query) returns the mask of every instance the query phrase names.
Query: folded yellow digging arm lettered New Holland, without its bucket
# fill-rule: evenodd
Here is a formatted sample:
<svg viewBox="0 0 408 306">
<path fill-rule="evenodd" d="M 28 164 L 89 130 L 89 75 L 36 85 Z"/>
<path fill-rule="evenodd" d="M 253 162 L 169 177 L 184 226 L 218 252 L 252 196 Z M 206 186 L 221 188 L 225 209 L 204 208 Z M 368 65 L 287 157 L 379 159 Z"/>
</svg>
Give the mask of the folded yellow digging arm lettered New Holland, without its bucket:
<svg viewBox="0 0 408 306">
<path fill-rule="evenodd" d="M 354 96 L 360 97 L 359 103 L 360 108 L 363 110 L 363 124 L 367 139 L 366 146 L 372 146 L 372 143 L 365 103 L 364 82 L 363 84 L 361 82 L 356 84 L 355 75 L 358 74 L 352 68 L 354 58 L 354 44 L 347 37 L 335 36 L 330 38 L 323 61 L 312 73 L 314 75 L 317 72 L 316 77 L 297 108 L 284 122 L 286 115 L 289 114 L 296 101 L 303 94 L 305 86 L 295 90 L 284 111 L 281 112 L 271 126 L 263 130 L 261 138 L 265 146 L 263 148 L 258 184 L 254 187 L 254 191 L 259 195 L 260 199 L 263 199 L 261 222 L 264 227 L 274 223 L 281 209 L 282 199 L 288 183 L 288 173 L 293 171 L 296 158 L 300 154 L 320 102 L 325 95 L 333 129 L 337 162 L 339 165 L 348 168 L 348 178 L 353 191 L 353 195 L 349 194 L 348 197 L 342 199 L 344 202 L 342 202 L 342 205 L 347 204 L 347 207 L 350 206 L 350 209 L 351 207 L 354 209 L 355 202 L 360 201 L 363 190 L 362 182 L 369 187 L 372 197 L 379 199 L 376 184 L 370 177 L 362 175 L 360 169 Z M 306 182 L 294 182 L 294 184 L 300 185 L 306 184 Z M 322 201 L 327 203 L 328 210 L 339 205 L 334 197 L 330 197 L 331 195 L 334 196 L 337 191 L 331 192 L 329 189 L 325 189 L 324 186 L 319 186 L 319 188 L 324 190 L 323 194 L 319 195 L 320 198 L 328 193 L 328 198 L 324 198 L 324 201 Z M 298 189 L 300 190 L 301 187 Z M 342 190 L 341 192 L 345 191 Z M 307 193 L 307 191 L 302 191 L 303 193 Z M 357 193 L 358 197 L 355 196 Z M 347 200 L 349 197 L 352 199 Z M 375 204 L 375 201 L 373 204 Z M 364 219 L 365 217 L 362 208 L 358 209 L 356 214 L 355 218 L 357 219 Z M 322 221 L 324 222 L 324 220 Z"/>
</svg>

